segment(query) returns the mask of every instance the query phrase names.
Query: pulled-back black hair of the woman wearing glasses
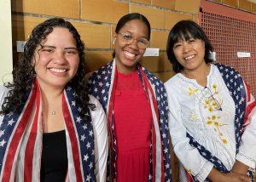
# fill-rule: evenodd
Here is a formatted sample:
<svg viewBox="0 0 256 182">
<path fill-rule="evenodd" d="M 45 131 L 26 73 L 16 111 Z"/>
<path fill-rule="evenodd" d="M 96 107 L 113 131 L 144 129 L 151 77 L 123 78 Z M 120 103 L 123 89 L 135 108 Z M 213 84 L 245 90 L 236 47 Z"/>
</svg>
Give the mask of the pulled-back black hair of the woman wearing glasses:
<svg viewBox="0 0 256 182">
<path fill-rule="evenodd" d="M 120 29 L 125 26 L 128 21 L 131 20 L 141 20 L 148 27 L 148 40 L 150 40 L 151 27 L 148 19 L 143 14 L 131 13 L 125 14 L 122 18 L 120 18 L 118 24 L 116 25 L 115 32 L 119 33 Z M 113 58 L 115 57 L 115 52 L 113 51 Z"/>
</svg>

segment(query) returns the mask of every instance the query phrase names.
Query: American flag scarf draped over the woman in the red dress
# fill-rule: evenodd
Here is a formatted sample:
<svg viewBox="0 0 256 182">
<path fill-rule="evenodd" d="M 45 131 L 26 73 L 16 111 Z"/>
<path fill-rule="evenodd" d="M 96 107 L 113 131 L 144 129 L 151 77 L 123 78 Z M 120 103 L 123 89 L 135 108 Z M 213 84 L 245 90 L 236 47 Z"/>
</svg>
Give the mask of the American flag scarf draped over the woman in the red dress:
<svg viewBox="0 0 256 182">
<path fill-rule="evenodd" d="M 137 64 L 137 73 L 148 96 L 153 116 L 150 145 L 150 173 L 148 181 L 172 181 L 171 151 L 168 128 L 168 104 L 166 89 L 157 77 L 154 77 L 141 65 Z M 108 160 L 108 180 L 116 181 L 116 138 L 113 119 L 113 97 L 117 82 L 115 60 L 95 71 L 89 79 L 90 94 L 102 104 L 108 117 L 110 159 Z"/>
</svg>

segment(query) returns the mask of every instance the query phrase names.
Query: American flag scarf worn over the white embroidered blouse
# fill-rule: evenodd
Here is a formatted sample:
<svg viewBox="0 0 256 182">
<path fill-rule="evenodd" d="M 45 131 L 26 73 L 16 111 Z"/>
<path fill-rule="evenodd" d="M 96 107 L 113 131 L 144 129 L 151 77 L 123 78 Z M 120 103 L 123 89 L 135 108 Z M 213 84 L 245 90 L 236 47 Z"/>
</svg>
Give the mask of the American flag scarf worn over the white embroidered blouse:
<svg viewBox="0 0 256 182">
<path fill-rule="evenodd" d="M 239 151 L 239 146 L 241 142 L 242 131 L 245 129 L 245 123 L 247 122 L 247 116 L 250 114 L 250 111 L 255 107 L 255 101 L 250 105 L 247 105 L 247 102 L 250 101 L 250 93 L 247 85 L 243 82 L 241 75 L 230 66 L 221 65 L 216 63 L 218 71 L 224 79 L 224 82 L 227 88 L 230 91 L 230 95 L 233 98 L 236 105 L 236 115 L 235 115 L 235 134 L 236 134 L 236 153 Z M 230 173 L 230 171 L 225 168 L 224 164 L 216 157 L 213 156 L 210 151 L 208 151 L 204 146 L 200 145 L 189 133 L 187 133 L 189 138 L 189 144 L 197 148 L 201 156 L 206 158 L 209 162 L 212 162 L 214 168 L 217 168 L 218 171 L 223 173 Z M 248 171 L 248 176 L 253 180 L 253 172 Z M 186 171 L 186 177 L 188 181 L 197 181 L 194 176 L 189 174 Z M 205 181 L 211 181 L 206 179 Z"/>
</svg>

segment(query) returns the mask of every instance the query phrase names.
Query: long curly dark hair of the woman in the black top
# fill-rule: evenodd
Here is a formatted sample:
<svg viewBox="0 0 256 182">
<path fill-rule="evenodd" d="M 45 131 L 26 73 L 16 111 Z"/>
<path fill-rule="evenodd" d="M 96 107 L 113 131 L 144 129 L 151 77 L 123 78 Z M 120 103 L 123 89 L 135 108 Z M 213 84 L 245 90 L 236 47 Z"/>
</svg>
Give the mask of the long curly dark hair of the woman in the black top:
<svg viewBox="0 0 256 182">
<path fill-rule="evenodd" d="M 88 111 L 95 109 L 95 105 L 89 103 L 88 88 L 85 81 L 85 68 L 84 68 L 84 43 L 80 39 L 79 32 L 68 21 L 61 18 L 54 18 L 45 20 L 32 30 L 31 36 L 28 38 L 25 47 L 24 54 L 21 56 L 18 65 L 13 71 L 13 82 L 7 82 L 5 87 L 10 88 L 7 97 L 5 97 L 2 105 L 2 111 L 0 114 L 6 115 L 9 112 L 20 113 L 23 106 L 26 103 L 26 93 L 32 89 L 32 82 L 36 77 L 34 65 L 35 50 L 40 43 L 53 31 L 55 27 L 67 28 L 72 34 L 77 43 L 79 51 L 79 68 L 77 74 L 70 82 L 67 82 L 67 86 L 71 86 L 75 89 L 78 95 L 77 104 L 82 108 L 81 116 Z"/>
</svg>

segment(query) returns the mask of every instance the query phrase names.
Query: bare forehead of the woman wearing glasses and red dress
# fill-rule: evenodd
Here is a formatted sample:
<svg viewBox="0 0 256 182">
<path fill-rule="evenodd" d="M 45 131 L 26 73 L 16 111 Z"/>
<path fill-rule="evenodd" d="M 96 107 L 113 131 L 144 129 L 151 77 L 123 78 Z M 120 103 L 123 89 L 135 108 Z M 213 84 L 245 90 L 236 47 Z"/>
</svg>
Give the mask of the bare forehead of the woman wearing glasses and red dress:
<svg viewBox="0 0 256 182">
<path fill-rule="evenodd" d="M 148 37 L 148 26 L 142 20 L 127 21 L 120 31 L 129 31 L 141 37 Z"/>
</svg>

